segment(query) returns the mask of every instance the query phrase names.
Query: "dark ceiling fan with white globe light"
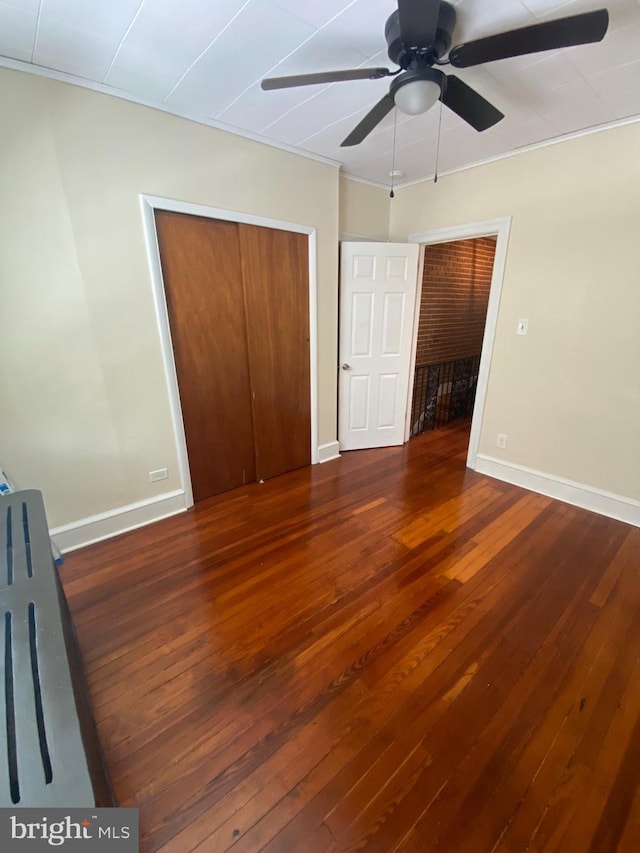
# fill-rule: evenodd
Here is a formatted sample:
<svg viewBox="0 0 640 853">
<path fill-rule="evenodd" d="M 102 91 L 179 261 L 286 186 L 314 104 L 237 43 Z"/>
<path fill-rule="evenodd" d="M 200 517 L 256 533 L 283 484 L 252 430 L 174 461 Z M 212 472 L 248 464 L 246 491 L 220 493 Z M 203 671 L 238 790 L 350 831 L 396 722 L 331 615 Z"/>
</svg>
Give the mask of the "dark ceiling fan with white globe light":
<svg viewBox="0 0 640 853">
<path fill-rule="evenodd" d="M 389 16 L 384 30 L 389 59 L 400 66 L 397 71 L 389 71 L 388 68 L 320 71 L 316 74 L 268 77 L 261 86 L 263 89 L 288 89 L 317 83 L 393 77 L 389 92 L 351 131 L 342 146 L 362 142 L 394 106 L 408 115 L 419 115 L 437 100 L 476 130 L 487 130 L 504 118 L 503 113 L 459 77 L 444 74 L 434 66 L 469 68 L 511 56 L 598 42 L 607 31 L 609 13 L 606 9 L 599 9 L 571 15 L 451 48 L 455 25 L 456 10 L 450 3 L 398 0 L 398 9 Z M 448 57 L 443 59 L 447 51 Z"/>
</svg>

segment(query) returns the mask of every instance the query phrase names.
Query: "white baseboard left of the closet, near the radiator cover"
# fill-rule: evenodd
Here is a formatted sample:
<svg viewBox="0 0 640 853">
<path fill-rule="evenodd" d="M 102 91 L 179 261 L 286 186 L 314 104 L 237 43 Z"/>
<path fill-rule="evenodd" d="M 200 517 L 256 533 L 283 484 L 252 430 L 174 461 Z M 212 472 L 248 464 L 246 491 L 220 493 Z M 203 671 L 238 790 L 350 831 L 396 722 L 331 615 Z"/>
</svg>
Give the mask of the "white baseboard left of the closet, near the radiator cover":
<svg viewBox="0 0 640 853">
<path fill-rule="evenodd" d="M 94 542 L 110 539 L 119 533 L 126 533 L 127 530 L 135 530 L 153 521 L 177 515 L 179 512 L 184 512 L 186 508 L 184 492 L 178 489 L 155 498 L 101 512 L 99 515 L 81 518 L 71 524 L 54 527 L 50 534 L 58 548 L 66 554 L 68 551 L 84 548 Z"/>
</svg>

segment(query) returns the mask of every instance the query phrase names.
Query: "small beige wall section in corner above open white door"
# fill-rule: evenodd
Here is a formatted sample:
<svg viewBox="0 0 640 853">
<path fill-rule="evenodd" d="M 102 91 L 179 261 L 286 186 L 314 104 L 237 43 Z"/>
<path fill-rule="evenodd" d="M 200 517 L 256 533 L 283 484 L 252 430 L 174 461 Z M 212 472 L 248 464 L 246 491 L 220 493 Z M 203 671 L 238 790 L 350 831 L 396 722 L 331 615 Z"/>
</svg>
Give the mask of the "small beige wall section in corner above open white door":
<svg viewBox="0 0 640 853">
<path fill-rule="evenodd" d="M 340 237 L 386 242 L 389 239 L 389 190 L 340 176 Z"/>
</svg>

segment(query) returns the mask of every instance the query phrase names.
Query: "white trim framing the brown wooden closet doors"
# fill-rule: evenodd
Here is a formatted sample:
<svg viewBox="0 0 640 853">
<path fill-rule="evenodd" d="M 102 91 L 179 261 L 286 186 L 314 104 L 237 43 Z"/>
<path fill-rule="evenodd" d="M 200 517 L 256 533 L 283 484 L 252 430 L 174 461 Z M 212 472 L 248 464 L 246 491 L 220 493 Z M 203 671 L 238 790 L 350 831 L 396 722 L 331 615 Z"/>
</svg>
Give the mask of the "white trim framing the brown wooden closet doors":
<svg viewBox="0 0 640 853">
<path fill-rule="evenodd" d="M 145 246 L 149 268 L 151 271 L 151 283 L 153 288 L 153 299 L 156 309 L 156 320 L 160 334 L 160 346 L 162 349 L 162 360 L 169 392 L 169 405 L 171 407 L 171 419 L 173 421 L 173 432 L 180 467 L 180 478 L 184 489 L 185 503 L 187 507 L 193 506 L 193 489 L 191 487 L 191 473 L 189 470 L 189 457 L 187 454 L 187 441 L 182 419 L 182 406 L 180 393 L 178 391 L 178 374 L 173 357 L 173 344 L 171 341 L 171 330 L 169 328 L 169 313 L 162 278 L 162 267 L 160 265 L 160 252 L 158 249 L 158 236 L 156 234 L 155 210 L 169 210 L 174 213 L 187 213 L 191 216 L 204 216 L 208 219 L 223 219 L 228 222 L 242 222 L 245 225 L 259 225 L 263 228 L 277 228 L 281 231 L 293 231 L 297 234 L 307 234 L 309 238 L 309 362 L 310 362 L 310 389 L 311 389 L 311 464 L 318 462 L 318 309 L 317 290 L 317 239 L 316 229 L 309 225 L 300 225 L 294 222 L 283 222 L 278 219 L 268 219 L 263 216 L 253 216 L 248 213 L 240 213 L 237 210 L 224 210 L 218 207 L 209 207 L 204 204 L 193 204 L 191 202 L 177 201 L 176 199 L 161 198 L 152 195 L 140 195 L 140 208 L 142 211 L 142 225 L 144 229 Z"/>
</svg>

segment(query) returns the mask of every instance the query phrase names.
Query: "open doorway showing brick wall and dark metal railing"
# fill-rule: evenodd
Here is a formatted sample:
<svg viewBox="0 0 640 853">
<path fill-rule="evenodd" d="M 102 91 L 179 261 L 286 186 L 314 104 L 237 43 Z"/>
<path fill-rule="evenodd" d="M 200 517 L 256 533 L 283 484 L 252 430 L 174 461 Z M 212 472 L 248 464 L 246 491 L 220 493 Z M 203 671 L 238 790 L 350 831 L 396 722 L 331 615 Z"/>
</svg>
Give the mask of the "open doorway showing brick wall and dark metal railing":
<svg viewBox="0 0 640 853">
<path fill-rule="evenodd" d="M 410 434 L 470 424 L 497 237 L 425 247 Z"/>
</svg>

